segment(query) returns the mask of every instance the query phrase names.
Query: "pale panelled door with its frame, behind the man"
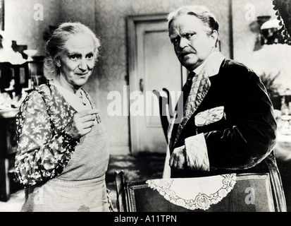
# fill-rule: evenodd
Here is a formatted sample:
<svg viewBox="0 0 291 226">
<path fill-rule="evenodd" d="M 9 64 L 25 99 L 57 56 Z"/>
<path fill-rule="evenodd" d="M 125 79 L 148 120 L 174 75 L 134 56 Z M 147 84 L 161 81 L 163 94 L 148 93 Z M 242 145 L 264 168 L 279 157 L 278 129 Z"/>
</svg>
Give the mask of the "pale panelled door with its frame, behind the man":
<svg viewBox="0 0 291 226">
<path fill-rule="evenodd" d="M 166 153 L 166 138 L 153 90 L 167 88 L 178 100 L 185 69 L 168 37 L 166 15 L 128 18 L 131 152 Z"/>
</svg>

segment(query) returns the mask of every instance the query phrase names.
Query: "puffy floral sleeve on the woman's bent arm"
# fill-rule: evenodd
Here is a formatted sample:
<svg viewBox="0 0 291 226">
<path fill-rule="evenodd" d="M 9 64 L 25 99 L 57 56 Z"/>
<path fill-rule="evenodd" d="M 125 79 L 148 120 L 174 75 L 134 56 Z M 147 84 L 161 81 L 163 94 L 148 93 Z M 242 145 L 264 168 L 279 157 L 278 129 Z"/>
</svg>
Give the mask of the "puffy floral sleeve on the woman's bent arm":
<svg viewBox="0 0 291 226">
<path fill-rule="evenodd" d="M 51 124 L 42 96 L 27 96 L 16 115 L 16 177 L 24 186 L 53 178 L 63 171 L 75 150 L 75 141 L 66 131 Z"/>
</svg>

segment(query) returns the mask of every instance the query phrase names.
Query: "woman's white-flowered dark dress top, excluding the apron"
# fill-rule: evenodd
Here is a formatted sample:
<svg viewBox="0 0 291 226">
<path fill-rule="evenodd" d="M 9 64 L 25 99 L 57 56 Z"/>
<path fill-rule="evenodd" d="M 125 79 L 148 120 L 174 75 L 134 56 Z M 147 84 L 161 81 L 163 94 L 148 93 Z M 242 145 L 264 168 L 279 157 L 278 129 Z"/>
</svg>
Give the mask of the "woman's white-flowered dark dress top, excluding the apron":
<svg viewBox="0 0 291 226">
<path fill-rule="evenodd" d="M 16 115 L 16 177 L 21 184 L 47 181 L 66 167 L 79 143 L 64 130 L 75 112 L 50 82 L 27 95 Z"/>
</svg>

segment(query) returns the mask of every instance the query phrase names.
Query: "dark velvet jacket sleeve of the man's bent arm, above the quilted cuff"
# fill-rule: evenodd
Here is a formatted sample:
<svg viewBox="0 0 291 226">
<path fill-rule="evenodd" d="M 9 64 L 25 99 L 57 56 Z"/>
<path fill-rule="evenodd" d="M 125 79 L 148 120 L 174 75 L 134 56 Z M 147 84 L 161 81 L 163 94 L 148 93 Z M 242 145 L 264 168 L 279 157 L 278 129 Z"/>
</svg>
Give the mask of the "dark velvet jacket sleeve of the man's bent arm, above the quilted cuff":
<svg viewBox="0 0 291 226">
<path fill-rule="evenodd" d="M 231 72 L 231 71 L 230 71 Z M 248 169 L 271 153 L 277 124 L 266 88 L 242 66 L 225 79 L 225 129 L 205 133 L 210 167 Z"/>
</svg>

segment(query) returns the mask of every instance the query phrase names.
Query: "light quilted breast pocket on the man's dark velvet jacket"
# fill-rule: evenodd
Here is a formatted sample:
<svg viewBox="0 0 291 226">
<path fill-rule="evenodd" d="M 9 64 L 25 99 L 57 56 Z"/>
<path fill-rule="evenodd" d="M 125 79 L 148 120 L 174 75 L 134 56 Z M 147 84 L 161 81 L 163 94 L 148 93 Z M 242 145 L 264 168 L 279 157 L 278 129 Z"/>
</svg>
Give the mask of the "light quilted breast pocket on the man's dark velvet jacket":
<svg viewBox="0 0 291 226">
<path fill-rule="evenodd" d="M 196 126 L 206 126 L 223 118 L 224 107 L 213 107 L 195 116 Z"/>
</svg>

